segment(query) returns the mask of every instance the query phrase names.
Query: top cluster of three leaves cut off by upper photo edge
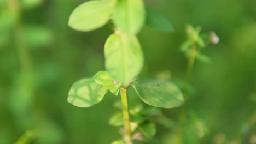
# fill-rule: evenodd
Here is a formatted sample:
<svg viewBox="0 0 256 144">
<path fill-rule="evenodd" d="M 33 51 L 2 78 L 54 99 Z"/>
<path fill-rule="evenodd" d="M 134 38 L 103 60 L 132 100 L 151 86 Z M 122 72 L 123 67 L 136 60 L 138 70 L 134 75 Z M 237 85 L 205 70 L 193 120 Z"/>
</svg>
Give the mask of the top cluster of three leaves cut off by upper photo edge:
<svg viewBox="0 0 256 144">
<path fill-rule="evenodd" d="M 85 2 L 72 12 L 68 25 L 77 31 L 92 31 L 106 25 L 110 17 L 115 27 L 131 35 L 136 35 L 144 23 L 162 32 L 173 31 L 171 22 L 157 10 L 145 8 L 142 0 Z"/>
</svg>

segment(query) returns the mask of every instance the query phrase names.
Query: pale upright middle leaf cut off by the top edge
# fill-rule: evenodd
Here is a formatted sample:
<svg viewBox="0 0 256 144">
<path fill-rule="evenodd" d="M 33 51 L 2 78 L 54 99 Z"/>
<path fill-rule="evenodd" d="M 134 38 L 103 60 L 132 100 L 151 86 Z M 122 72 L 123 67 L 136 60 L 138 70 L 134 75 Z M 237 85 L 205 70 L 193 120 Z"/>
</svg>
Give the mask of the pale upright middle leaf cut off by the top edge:
<svg viewBox="0 0 256 144">
<path fill-rule="evenodd" d="M 121 31 L 137 34 L 145 22 L 143 0 L 119 0 L 114 11 L 114 24 Z"/>
</svg>

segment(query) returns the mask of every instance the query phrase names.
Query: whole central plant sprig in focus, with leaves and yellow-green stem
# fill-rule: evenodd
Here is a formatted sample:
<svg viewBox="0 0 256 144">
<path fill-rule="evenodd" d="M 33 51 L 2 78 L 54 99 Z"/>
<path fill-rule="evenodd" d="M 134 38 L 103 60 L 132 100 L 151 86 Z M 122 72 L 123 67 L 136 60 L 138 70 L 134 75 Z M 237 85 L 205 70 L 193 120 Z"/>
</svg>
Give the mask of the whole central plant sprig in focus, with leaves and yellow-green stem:
<svg viewBox="0 0 256 144">
<path fill-rule="evenodd" d="M 90 107 L 103 99 L 108 90 L 121 94 L 123 105 L 123 143 L 132 143 L 132 131 L 127 89 L 132 87 L 148 105 L 173 108 L 183 104 L 183 95 L 172 82 L 158 79 L 138 79 L 143 68 L 144 56 L 136 34 L 146 24 L 162 32 L 172 32 L 173 26 L 157 10 L 145 7 L 142 0 L 89 1 L 74 9 L 68 25 L 77 31 L 93 31 L 114 24 L 114 33 L 104 45 L 106 71 L 99 71 L 92 78 L 75 82 L 68 102 L 78 107 Z"/>
</svg>

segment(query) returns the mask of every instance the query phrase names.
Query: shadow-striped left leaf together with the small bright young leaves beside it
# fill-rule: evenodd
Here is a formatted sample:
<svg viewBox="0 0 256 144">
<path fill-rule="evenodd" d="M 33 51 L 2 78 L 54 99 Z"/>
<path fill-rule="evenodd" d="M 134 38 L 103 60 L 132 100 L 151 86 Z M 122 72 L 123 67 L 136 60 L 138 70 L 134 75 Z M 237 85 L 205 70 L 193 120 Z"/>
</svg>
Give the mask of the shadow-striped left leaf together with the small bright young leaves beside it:
<svg viewBox="0 0 256 144">
<path fill-rule="evenodd" d="M 77 107 L 91 107 L 100 103 L 108 89 L 118 94 L 121 84 L 115 83 L 106 71 L 100 71 L 94 79 L 75 82 L 68 93 L 67 101 Z"/>
</svg>

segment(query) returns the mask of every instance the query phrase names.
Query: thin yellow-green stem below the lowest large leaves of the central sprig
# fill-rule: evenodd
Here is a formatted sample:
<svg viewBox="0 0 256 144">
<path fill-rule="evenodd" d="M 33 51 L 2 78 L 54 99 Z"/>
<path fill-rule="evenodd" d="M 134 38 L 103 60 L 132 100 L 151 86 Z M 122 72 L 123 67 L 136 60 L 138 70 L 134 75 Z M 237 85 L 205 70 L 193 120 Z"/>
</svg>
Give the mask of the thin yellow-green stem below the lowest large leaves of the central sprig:
<svg viewBox="0 0 256 144">
<path fill-rule="evenodd" d="M 132 144 L 127 89 L 120 88 L 120 93 L 121 93 L 121 100 L 122 100 L 122 105 L 123 105 L 123 119 L 124 119 L 124 129 L 125 129 L 124 140 L 125 140 L 126 144 Z"/>
</svg>

